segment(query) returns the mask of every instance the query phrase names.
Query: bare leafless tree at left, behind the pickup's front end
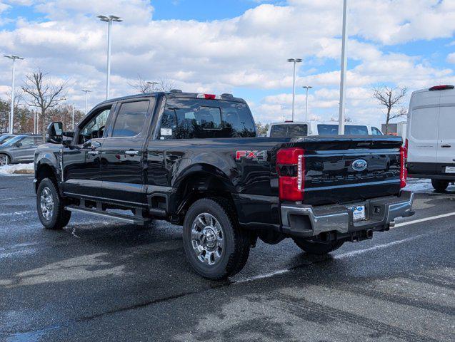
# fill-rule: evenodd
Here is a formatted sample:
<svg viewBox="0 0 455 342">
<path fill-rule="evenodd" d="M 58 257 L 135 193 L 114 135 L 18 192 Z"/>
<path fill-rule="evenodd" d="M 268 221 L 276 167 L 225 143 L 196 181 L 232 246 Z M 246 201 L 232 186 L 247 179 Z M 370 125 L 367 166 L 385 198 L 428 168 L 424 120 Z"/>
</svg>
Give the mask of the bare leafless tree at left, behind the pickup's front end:
<svg viewBox="0 0 455 342">
<path fill-rule="evenodd" d="M 25 76 L 24 93 L 30 95 L 29 105 L 37 107 L 40 110 L 39 123 L 41 123 L 41 132 L 43 139 L 46 138 L 46 125 L 49 117 L 48 110 L 59 105 L 65 100 L 66 81 L 54 84 L 46 79 L 47 74 L 41 70 Z"/>
</svg>

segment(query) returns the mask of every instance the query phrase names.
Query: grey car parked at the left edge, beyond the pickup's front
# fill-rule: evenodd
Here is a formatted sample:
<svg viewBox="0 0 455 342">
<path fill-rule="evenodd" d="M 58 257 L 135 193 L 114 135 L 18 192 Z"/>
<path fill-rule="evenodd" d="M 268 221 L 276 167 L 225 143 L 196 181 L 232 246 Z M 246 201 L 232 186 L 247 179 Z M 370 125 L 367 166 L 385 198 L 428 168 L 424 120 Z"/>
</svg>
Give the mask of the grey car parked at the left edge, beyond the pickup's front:
<svg viewBox="0 0 455 342">
<path fill-rule="evenodd" d="M 36 147 L 42 143 L 41 135 L 14 135 L 0 145 L 0 166 L 33 162 Z"/>
</svg>

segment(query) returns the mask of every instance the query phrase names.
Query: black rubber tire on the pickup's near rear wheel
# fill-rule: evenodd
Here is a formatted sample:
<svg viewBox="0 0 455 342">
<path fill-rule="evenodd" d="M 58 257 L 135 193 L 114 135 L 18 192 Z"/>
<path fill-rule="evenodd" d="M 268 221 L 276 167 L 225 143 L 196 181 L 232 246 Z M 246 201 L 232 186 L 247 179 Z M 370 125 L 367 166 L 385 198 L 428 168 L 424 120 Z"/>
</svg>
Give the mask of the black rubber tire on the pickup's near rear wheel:
<svg viewBox="0 0 455 342">
<path fill-rule="evenodd" d="M 204 257 L 207 253 L 196 254 L 194 242 L 191 238 L 191 230 L 196 218 L 201 214 L 208 213 L 221 227 L 223 249 L 219 259 L 210 265 L 207 262 L 201 261 L 199 258 Z M 204 234 L 200 233 L 202 239 Z M 241 271 L 244 268 L 249 256 L 250 237 L 248 232 L 244 232 L 239 225 L 236 218 L 234 207 L 223 198 L 204 198 L 199 199 L 191 205 L 188 212 L 186 212 L 184 219 L 184 249 L 186 258 L 191 264 L 191 267 L 196 273 L 204 276 L 204 278 L 211 280 L 226 279 L 228 276 Z M 198 240 L 199 241 L 199 240 Z M 209 241 L 208 239 L 205 240 Z M 216 246 L 218 246 L 218 237 L 216 238 Z M 202 246 L 202 244 L 201 244 Z M 221 247 L 220 247 L 221 248 Z"/>
</svg>

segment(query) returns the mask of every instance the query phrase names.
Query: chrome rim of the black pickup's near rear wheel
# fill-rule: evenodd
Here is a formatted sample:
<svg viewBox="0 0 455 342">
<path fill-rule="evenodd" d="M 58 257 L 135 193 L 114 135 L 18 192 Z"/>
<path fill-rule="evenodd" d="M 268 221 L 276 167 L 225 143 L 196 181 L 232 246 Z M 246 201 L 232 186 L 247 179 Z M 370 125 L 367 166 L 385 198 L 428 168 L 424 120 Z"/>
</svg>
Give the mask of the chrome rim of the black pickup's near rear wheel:
<svg viewBox="0 0 455 342">
<path fill-rule="evenodd" d="M 224 232 L 218 220 L 203 212 L 191 225 L 191 244 L 197 259 L 204 264 L 214 265 L 224 253 Z"/>
</svg>

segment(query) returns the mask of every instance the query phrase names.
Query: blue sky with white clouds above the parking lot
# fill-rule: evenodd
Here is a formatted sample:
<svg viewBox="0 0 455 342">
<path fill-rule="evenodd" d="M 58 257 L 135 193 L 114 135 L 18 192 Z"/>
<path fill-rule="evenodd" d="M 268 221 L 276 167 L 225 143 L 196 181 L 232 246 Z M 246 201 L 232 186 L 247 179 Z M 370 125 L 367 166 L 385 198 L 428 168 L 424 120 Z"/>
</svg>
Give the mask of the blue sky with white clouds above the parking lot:
<svg viewBox="0 0 455 342">
<path fill-rule="evenodd" d="M 338 118 L 342 0 L 0 0 L 0 52 L 24 57 L 16 85 L 38 69 L 67 81 L 67 103 L 84 110 L 105 99 L 107 24 L 112 28 L 111 97 L 166 79 L 197 93 L 244 98 L 256 121 Z M 379 125 L 372 89 L 412 91 L 455 84 L 455 0 L 349 0 L 346 117 Z M 0 97 L 11 87 L 11 61 L 0 59 Z M 409 95 L 401 106 L 407 107 Z M 399 108 L 397 108 L 398 110 Z"/>
</svg>

